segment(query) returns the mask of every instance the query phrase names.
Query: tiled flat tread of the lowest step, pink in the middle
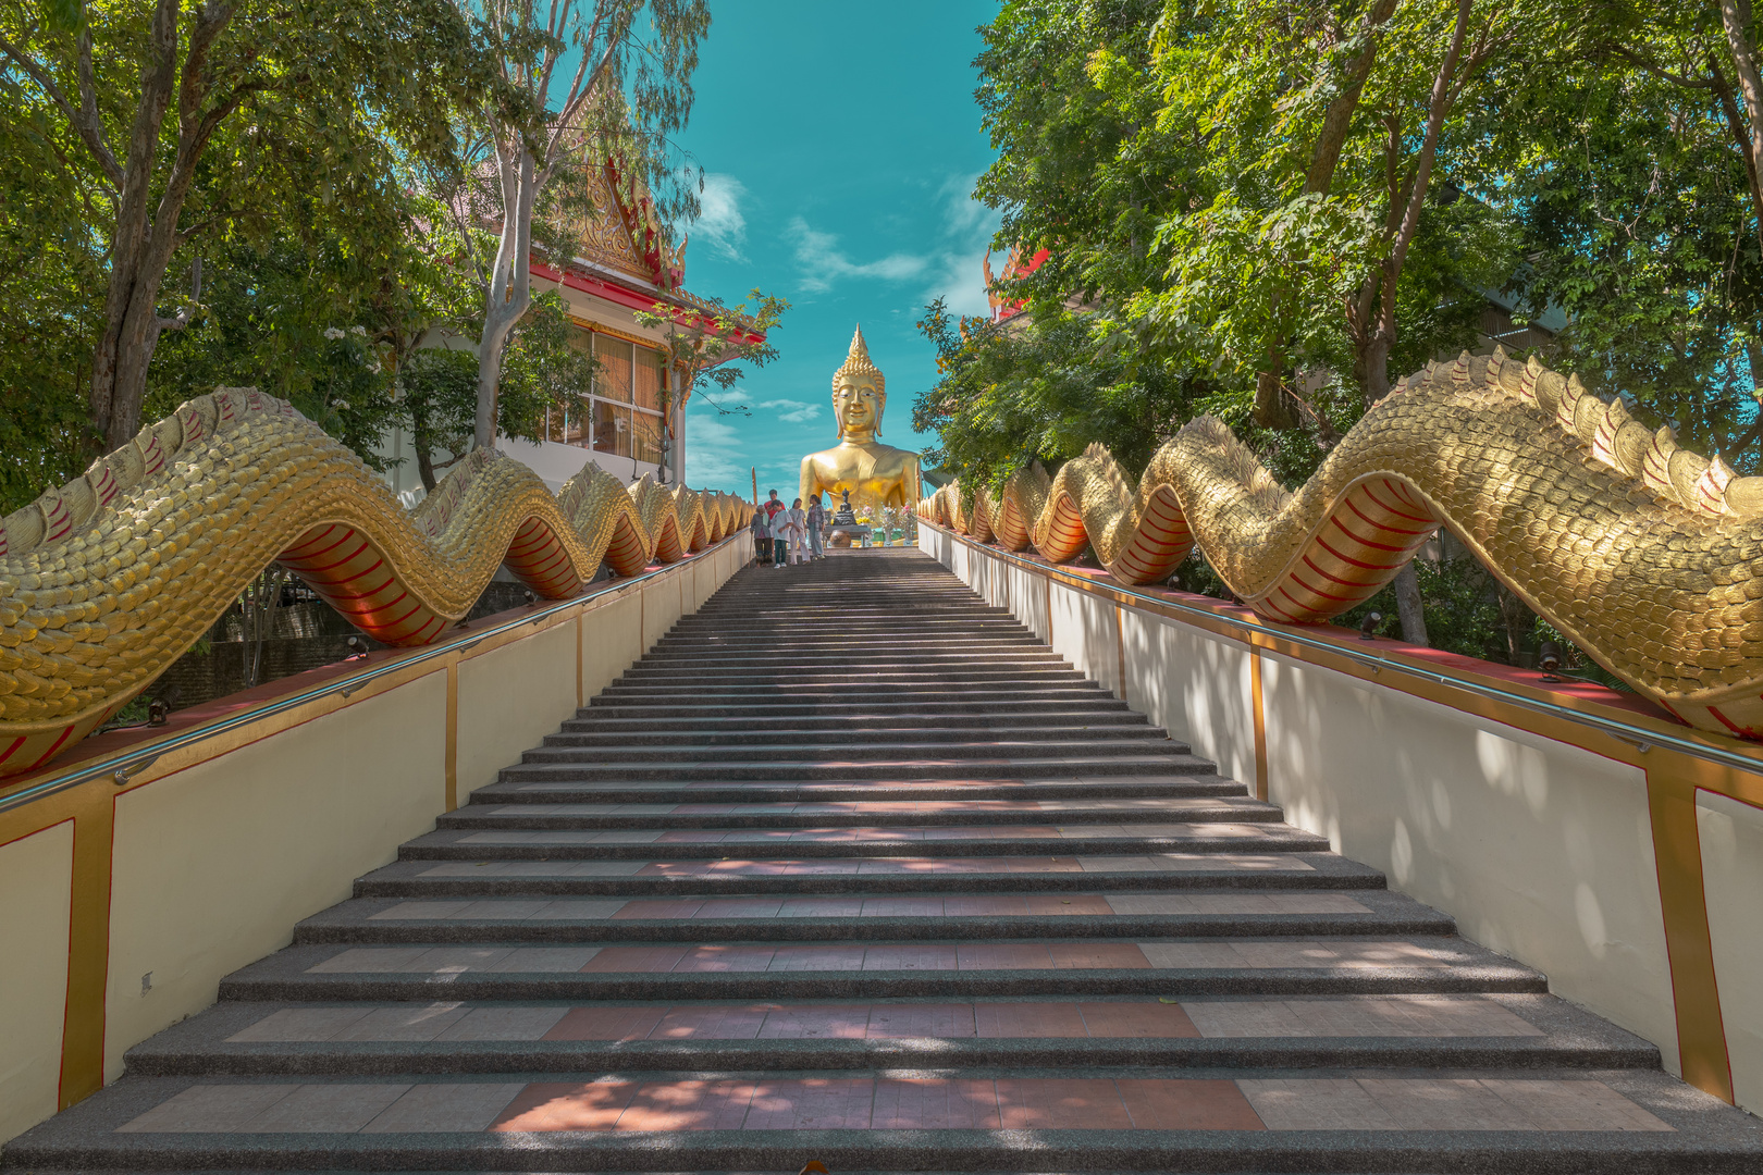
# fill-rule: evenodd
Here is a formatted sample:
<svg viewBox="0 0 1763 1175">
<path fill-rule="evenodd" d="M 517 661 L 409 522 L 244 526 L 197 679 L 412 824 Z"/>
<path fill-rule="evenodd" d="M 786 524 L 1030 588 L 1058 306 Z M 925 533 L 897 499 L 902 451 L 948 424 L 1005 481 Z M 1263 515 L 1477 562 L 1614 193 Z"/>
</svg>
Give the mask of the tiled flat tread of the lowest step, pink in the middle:
<svg viewBox="0 0 1763 1175">
<path fill-rule="evenodd" d="M 1671 1131 L 1588 1078 L 196 1083 L 116 1133 Z"/>
</svg>

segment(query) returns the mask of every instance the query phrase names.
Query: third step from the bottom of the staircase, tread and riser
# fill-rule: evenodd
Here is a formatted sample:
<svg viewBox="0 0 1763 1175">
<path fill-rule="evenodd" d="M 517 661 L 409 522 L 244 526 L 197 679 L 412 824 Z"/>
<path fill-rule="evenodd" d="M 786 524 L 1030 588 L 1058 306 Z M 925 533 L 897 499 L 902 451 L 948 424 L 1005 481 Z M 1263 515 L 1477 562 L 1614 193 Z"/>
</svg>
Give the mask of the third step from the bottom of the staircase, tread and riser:
<svg viewBox="0 0 1763 1175">
<path fill-rule="evenodd" d="M 892 999 L 1017 995 L 1544 994 L 1451 935 L 1231 939 L 296 944 L 220 983 L 222 1001 Z"/>
</svg>

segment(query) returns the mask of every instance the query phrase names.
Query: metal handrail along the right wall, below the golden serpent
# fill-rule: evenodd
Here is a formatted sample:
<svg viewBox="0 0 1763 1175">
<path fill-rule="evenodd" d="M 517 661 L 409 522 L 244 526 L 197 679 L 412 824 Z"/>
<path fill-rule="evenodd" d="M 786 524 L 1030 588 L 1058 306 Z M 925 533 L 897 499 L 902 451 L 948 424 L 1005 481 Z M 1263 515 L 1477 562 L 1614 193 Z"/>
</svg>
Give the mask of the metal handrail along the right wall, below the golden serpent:
<svg viewBox="0 0 1763 1175">
<path fill-rule="evenodd" d="M 971 537 L 968 537 L 964 534 L 957 534 L 956 530 L 952 530 L 948 527 L 943 527 L 941 523 L 934 523 L 934 521 L 927 521 L 927 520 L 919 520 L 919 525 L 920 527 L 931 527 L 934 530 L 941 530 L 943 534 L 948 534 L 950 537 L 961 539 L 963 543 L 966 543 L 970 546 L 977 546 L 977 548 L 984 550 L 987 555 L 996 555 L 996 557 L 1010 560 L 1010 562 L 1014 562 L 1014 564 L 1017 564 L 1021 567 L 1030 567 L 1030 569 L 1033 569 L 1037 573 L 1042 573 L 1042 574 L 1054 574 L 1054 573 L 1058 573 L 1056 567 L 1049 567 L 1049 565 L 1038 564 L 1038 562 L 1035 562 L 1031 558 L 1024 558 L 1023 555 L 1019 555 L 1015 551 L 1007 551 L 1007 550 L 998 548 L 998 546 L 989 546 L 989 544 L 984 544 L 984 543 L 977 543 L 975 539 L 971 539 Z M 1079 576 L 1061 576 L 1061 578 L 1065 581 L 1072 583 L 1072 587 L 1077 587 L 1077 581 L 1081 580 Z M 1333 641 L 1317 639 L 1313 636 L 1305 636 L 1303 632 L 1294 632 L 1287 625 L 1275 625 L 1273 622 L 1261 620 L 1259 617 L 1257 617 L 1257 624 L 1245 624 L 1243 620 L 1238 620 L 1238 618 L 1232 618 L 1232 617 L 1220 617 L 1218 613 L 1215 613 L 1211 610 L 1199 608 L 1195 604 L 1185 604 L 1185 602 L 1181 602 L 1178 599 L 1164 599 L 1160 595 L 1148 595 L 1144 592 L 1135 592 L 1134 588 L 1125 587 L 1121 583 L 1112 583 L 1112 581 L 1109 581 L 1109 583 L 1095 583 L 1095 587 L 1102 588 L 1102 590 L 1107 590 L 1107 592 L 1114 592 L 1118 595 L 1130 595 L 1134 599 L 1142 599 L 1146 602 L 1157 604 L 1158 608 L 1169 608 L 1172 611 L 1183 611 L 1183 613 L 1188 613 L 1188 615 L 1194 615 L 1194 617 L 1204 617 L 1211 624 L 1231 624 L 1231 625 L 1238 625 L 1238 627 L 1241 627 L 1245 631 L 1261 629 L 1262 632 L 1268 632 L 1269 636 L 1275 636 L 1275 638 L 1278 638 L 1282 641 L 1291 641 L 1294 645 L 1313 648 L 1317 652 L 1326 652 L 1326 654 L 1331 654 L 1335 657 L 1345 657 L 1349 661 L 1354 661 L 1354 662 L 1358 662 L 1361 666 L 1366 666 L 1366 668 L 1372 668 L 1375 671 L 1393 669 L 1396 673 L 1405 673 L 1409 676 L 1421 678 L 1423 682 L 1432 682 L 1435 685 L 1446 685 L 1449 689 L 1460 689 L 1460 691 L 1465 691 L 1465 692 L 1470 692 L 1470 694 L 1477 694 L 1481 698 L 1488 698 L 1491 701 L 1500 701 L 1500 703 L 1506 703 L 1509 706 L 1518 706 L 1521 710 L 1529 710 L 1532 713 L 1543 713 L 1543 715 L 1548 715 L 1548 717 L 1564 719 L 1567 722 L 1576 722 L 1580 726 L 1592 728 L 1592 729 L 1596 729 L 1596 731 L 1599 731 L 1603 735 L 1608 735 L 1611 738 L 1620 738 L 1622 742 L 1634 743 L 1634 747 L 1641 754 L 1647 754 L 1654 747 L 1668 747 L 1671 750 L 1677 750 L 1678 754 L 1685 754 L 1685 756 L 1691 756 L 1691 757 L 1696 757 L 1696 759 L 1703 759 L 1703 761 L 1708 761 L 1708 763 L 1719 763 L 1721 766 L 1738 768 L 1738 770 L 1747 772 L 1751 775 L 1763 775 L 1763 747 L 1759 747 L 1752 754 L 1744 754 L 1740 750 L 1728 750 L 1724 747 L 1710 747 L 1710 745 L 1694 742 L 1691 738 L 1684 738 L 1680 735 L 1673 735 L 1670 731 L 1655 731 L 1655 729 L 1648 729 L 1645 726 L 1634 726 L 1633 722 L 1624 722 L 1622 719 L 1603 717 L 1603 715 L 1596 715 L 1596 713 L 1585 713 L 1585 712 L 1574 710 L 1573 706 L 1564 706 L 1564 705 L 1555 703 L 1555 701 L 1544 701 L 1541 698 L 1529 698 L 1525 694 L 1518 694 L 1518 692 L 1513 692 L 1509 689 L 1500 689 L 1499 685 L 1488 685 L 1488 684 L 1483 684 L 1483 682 L 1474 682 L 1474 680 L 1469 680 L 1469 678 L 1453 676 L 1449 673 L 1440 673 L 1439 669 L 1426 669 L 1426 668 L 1421 668 L 1421 666 L 1407 664 L 1403 661 L 1393 661 L 1389 657 L 1380 657 L 1380 655 L 1370 654 L 1370 652 L 1361 650 L 1361 648 L 1352 648 L 1352 647 L 1347 647 L 1347 645 L 1336 645 Z"/>
</svg>

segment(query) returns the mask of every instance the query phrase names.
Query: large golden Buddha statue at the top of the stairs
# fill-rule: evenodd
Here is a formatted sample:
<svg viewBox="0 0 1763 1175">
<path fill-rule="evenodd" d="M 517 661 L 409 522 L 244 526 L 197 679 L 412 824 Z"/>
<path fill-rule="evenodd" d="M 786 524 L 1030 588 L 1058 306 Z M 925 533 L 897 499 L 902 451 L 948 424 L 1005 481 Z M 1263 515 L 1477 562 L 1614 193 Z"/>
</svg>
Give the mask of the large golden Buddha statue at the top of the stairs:
<svg viewBox="0 0 1763 1175">
<path fill-rule="evenodd" d="M 919 504 L 919 454 L 882 444 L 882 412 L 887 409 L 887 382 L 869 361 L 864 328 L 852 335 L 844 365 L 832 373 L 832 416 L 839 426 L 839 446 L 802 458 L 802 502 L 815 493 L 829 509 L 841 490 L 857 502 L 873 506 Z"/>
</svg>

